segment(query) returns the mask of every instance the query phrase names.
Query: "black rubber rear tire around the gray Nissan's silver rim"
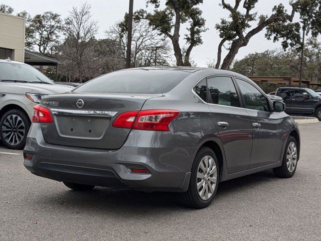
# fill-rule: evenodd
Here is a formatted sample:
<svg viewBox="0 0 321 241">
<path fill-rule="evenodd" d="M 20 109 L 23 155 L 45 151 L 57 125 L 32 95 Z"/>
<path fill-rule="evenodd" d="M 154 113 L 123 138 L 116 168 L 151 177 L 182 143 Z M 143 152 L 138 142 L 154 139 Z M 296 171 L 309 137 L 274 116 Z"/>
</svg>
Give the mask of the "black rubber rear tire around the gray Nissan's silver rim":
<svg viewBox="0 0 321 241">
<path fill-rule="evenodd" d="M 201 164 L 200 164 L 201 162 L 203 162 L 203 160 L 206 162 L 206 157 L 208 157 L 208 160 L 210 160 L 209 157 L 211 157 L 212 161 L 214 161 L 214 162 L 212 162 L 213 165 L 215 164 L 215 168 L 212 165 L 212 168 L 208 168 L 208 169 L 206 169 L 206 166 L 204 165 L 205 170 L 208 170 L 209 173 L 213 173 L 211 176 L 208 176 L 207 174 L 205 176 L 203 175 L 204 169 L 202 169 Z M 204 162 L 203 162 L 203 164 L 204 164 Z M 209 164 L 208 167 L 210 167 L 210 161 L 208 161 L 208 164 Z M 214 169 L 216 169 L 216 170 L 214 170 Z M 213 150 L 211 148 L 202 147 L 197 152 L 194 162 L 193 162 L 193 165 L 192 165 L 189 188 L 188 188 L 187 192 L 179 193 L 181 203 L 184 206 L 192 207 L 192 208 L 205 208 L 205 207 L 209 206 L 214 199 L 214 196 L 216 194 L 217 187 L 218 187 L 219 171 L 217 171 L 217 170 L 220 170 L 220 169 L 219 169 L 219 165 L 218 165 L 218 161 L 217 161 L 217 157 L 216 157 L 215 153 L 213 152 Z M 199 172 L 202 172 L 202 173 L 199 173 Z M 204 179 L 199 178 L 200 176 L 198 176 L 198 175 L 201 175 L 201 176 L 203 175 L 204 178 L 208 180 L 208 181 L 203 182 L 203 185 L 200 186 L 200 189 L 197 188 L 197 183 L 202 183 L 202 180 L 204 180 Z M 215 187 L 213 188 L 214 182 L 212 182 L 212 180 L 214 180 L 213 177 L 215 177 L 215 176 L 216 176 Z M 209 180 L 209 178 L 212 178 L 212 179 Z M 205 185 L 205 187 L 204 187 L 204 185 Z M 212 192 L 210 190 L 210 185 L 212 187 Z M 206 200 L 201 198 L 201 194 L 199 194 L 199 191 L 202 193 L 204 188 L 205 188 L 204 195 L 206 195 L 206 189 L 208 190 L 208 199 L 206 199 Z"/>
</svg>

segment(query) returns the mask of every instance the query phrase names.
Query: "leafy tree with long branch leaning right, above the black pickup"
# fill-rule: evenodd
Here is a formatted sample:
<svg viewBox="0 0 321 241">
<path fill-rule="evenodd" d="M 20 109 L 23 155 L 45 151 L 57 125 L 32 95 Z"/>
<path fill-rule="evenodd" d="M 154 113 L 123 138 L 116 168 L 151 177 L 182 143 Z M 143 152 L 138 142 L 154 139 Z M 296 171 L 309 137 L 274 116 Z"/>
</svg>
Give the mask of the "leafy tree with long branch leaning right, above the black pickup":
<svg viewBox="0 0 321 241">
<path fill-rule="evenodd" d="M 296 13 L 301 20 L 305 20 L 307 34 L 311 32 L 316 36 L 320 32 L 320 1 L 292 0 L 290 13 L 283 4 L 274 6 L 272 14 L 259 15 L 255 10 L 259 0 L 235 0 L 234 6 L 222 0 L 221 6 L 229 11 L 229 19 L 221 19 L 216 25 L 222 39 L 218 46 L 216 68 L 229 69 L 240 48 L 248 45 L 250 39 L 266 29 L 267 39 L 278 41 L 282 39 L 282 47 L 300 47 L 300 23 L 293 22 Z M 252 26 L 254 25 L 254 26 Z M 228 53 L 222 61 L 222 48 L 229 44 Z M 222 62 L 222 64 L 221 64 Z"/>
</svg>

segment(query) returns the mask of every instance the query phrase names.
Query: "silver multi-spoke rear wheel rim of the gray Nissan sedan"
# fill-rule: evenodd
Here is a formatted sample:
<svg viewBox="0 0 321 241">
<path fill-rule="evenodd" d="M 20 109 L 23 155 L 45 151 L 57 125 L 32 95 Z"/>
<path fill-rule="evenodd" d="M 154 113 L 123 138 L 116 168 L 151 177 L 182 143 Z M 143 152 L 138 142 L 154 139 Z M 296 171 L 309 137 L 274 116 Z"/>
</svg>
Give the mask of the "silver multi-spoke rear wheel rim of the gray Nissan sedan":
<svg viewBox="0 0 321 241">
<path fill-rule="evenodd" d="M 197 172 L 197 191 L 201 199 L 208 200 L 215 192 L 217 168 L 211 156 L 203 157 Z"/>
</svg>

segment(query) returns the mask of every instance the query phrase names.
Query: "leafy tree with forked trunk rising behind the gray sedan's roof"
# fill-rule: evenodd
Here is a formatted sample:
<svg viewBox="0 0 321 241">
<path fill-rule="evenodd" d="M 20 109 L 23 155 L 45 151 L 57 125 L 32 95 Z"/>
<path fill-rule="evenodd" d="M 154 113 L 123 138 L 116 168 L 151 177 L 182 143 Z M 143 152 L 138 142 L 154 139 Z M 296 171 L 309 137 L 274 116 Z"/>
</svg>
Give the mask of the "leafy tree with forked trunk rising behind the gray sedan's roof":
<svg viewBox="0 0 321 241">
<path fill-rule="evenodd" d="M 136 19 L 147 19 L 154 30 L 171 40 L 178 66 L 191 66 L 191 52 L 195 46 L 203 44 L 201 33 L 207 30 L 202 11 L 197 7 L 202 3 L 203 0 L 167 0 L 165 9 L 160 9 L 159 0 L 147 0 L 147 6 L 154 6 L 153 12 L 140 10 L 135 16 Z M 186 23 L 189 23 L 188 34 L 184 36 L 187 46 L 183 51 L 179 43 L 180 29 Z"/>
</svg>

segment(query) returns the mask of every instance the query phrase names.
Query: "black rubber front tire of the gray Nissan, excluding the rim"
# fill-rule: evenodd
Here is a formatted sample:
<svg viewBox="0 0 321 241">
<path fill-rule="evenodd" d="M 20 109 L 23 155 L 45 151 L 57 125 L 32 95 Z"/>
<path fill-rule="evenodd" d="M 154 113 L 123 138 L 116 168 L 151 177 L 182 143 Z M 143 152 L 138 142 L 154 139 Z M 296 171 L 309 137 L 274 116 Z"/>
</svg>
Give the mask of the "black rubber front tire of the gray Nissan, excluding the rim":
<svg viewBox="0 0 321 241">
<path fill-rule="evenodd" d="M 288 155 L 288 151 L 289 151 L 289 146 L 292 145 L 292 143 L 294 143 L 295 145 L 295 163 L 294 161 L 288 160 L 287 159 L 287 155 Z M 291 152 L 289 152 L 291 153 Z M 274 168 L 273 169 L 273 173 L 275 176 L 277 177 L 281 177 L 281 178 L 290 178 L 294 175 L 296 167 L 297 167 L 297 156 L 298 156 L 298 149 L 297 149 L 297 143 L 294 139 L 294 137 L 290 136 L 286 142 L 286 146 L 285 146 L 285 150 L 284 150 L 284 154 L 283 154 L 283 160 L 282 160 L 282 165 L 280 167 Z M 294 157 L 294 155 L 293 155 Z M 293 159 L 292 159 L 293 160 Z M 289 165 L 288 165 L 289 164 Z M 290 166 L 290 167 L 288 167 Z"/>
</svg>

